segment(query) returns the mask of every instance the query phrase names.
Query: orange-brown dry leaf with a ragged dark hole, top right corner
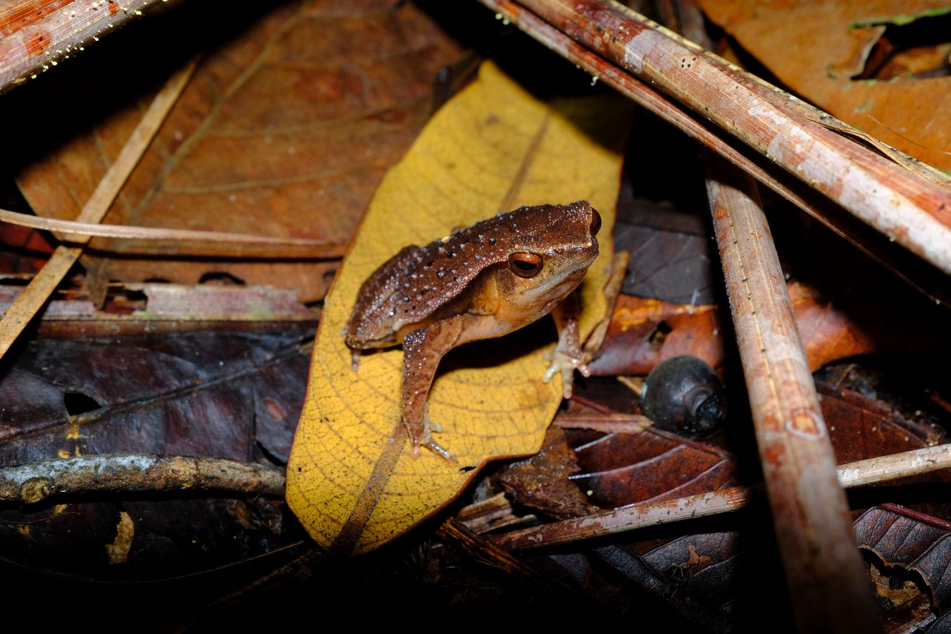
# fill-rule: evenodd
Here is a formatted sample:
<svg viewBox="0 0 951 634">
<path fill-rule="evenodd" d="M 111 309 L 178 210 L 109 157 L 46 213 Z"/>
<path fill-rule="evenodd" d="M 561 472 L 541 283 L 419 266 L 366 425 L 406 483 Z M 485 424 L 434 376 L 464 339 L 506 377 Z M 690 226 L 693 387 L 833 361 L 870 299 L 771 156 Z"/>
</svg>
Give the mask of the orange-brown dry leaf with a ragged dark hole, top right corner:
<svg viewBox="0 0 951 634">
<path fill-rule="evenodd" d="M 951 77 L 856 81 L 884 25 L 947 11 L 945 0 L 700 0 L 786 86 L 844 122 L 951 169 Z"/>
</svg>

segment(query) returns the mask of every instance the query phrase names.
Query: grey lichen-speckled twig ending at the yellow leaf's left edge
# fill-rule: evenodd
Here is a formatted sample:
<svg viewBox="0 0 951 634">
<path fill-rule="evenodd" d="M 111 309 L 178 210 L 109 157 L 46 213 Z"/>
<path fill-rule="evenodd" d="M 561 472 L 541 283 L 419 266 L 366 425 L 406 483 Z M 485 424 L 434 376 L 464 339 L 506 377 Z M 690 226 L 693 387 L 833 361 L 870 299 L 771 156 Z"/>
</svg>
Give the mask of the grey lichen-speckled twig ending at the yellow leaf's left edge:
<svg viewBox="0 0 951 634">
<path fill-rule="evenodd" d="M 107 453 L 0 468 L 0 501 L 146 491 L 228 491 L 281 497 L 284 471 L 224 458 Z"/>
</svg>

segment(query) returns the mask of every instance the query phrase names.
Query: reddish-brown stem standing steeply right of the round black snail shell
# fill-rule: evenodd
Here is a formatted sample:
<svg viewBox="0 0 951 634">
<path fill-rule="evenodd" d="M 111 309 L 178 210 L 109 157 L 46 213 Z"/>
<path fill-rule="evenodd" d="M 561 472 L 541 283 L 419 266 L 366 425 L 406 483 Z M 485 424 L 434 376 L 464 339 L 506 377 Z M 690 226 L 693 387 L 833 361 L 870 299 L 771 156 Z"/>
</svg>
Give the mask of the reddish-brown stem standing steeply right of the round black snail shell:
<svg viewBox="0 0 951 634">
<path fill-rule="evenodd" d="M 799 629 L 874 632 L 877 611 L 756 185 L 709 163 L 713 226 Z"/>
</svg>

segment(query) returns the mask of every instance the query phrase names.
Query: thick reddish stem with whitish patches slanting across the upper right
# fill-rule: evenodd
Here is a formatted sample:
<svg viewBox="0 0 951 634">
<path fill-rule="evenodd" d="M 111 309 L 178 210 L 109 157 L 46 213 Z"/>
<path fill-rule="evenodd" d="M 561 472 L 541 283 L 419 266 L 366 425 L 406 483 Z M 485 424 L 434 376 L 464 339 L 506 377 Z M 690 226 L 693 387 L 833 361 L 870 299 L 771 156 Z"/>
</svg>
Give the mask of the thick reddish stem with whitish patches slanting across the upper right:
<svg viewBox="0 0 951 634">
<path fill-rule="evenodd" d="M 922 178 L 814 123 L 819 115 L 832 122 L 835 120 L 811 108 L 808 112 L 812 114 L 805 116 L 805 106 L 778 88 L 740 78 L 740 71 L 735 67 L 616 3 L 598 0 L 571 3 L 522 0 L 517 5 L 510 0 L 481 2 L 575 63 L 587 56 L 592 66 L 586 69 L 595 76 L 631 87 L 630 81 L 618 76 L 627 71 L 667 92 L 809 187 L 841 204 L 888 240 L 895 240 L 944 273 L 951 273 L 951 189 L 946 187 L 946 179 L 937 174 L 934 179 L 941 183 Z M 544 25 L 542 20 L 549 25 Z M 566 35 L 576 43 L 567 43 Z M 591 50 L 586 51 L 584 47 Z M 592 59 L 591 51 L 604 58 L 600 64 L 596 63 L 596 56 Z M 612 67 L 610 63 L 617 66 Z M 650 88 L 642 86 L 634 91 L 640 93 L 645 102 L 661 104 L 656 96 L 647 95 Z M 638 100 L 638 97 L 632 98 Z M 682 126 L 685 131 L 691 134 L 697 131 L 697 125 L 684 121 L 688 117 L 677 118 L 685 124 Z M 709 135 L 706 136 L 703 141 L 708 143 Z M 758 180 L 764 180 L 761 178 L 764 170 L 755 173 L 748 169 L 749 161 L 736 160 L 739 153 L 735 150 L 722 151 L 726 149 L 722 142 L 710 146 L 731 163 L 740 164 Z M 768 184 L 775 188 L 772 183 Z M 790 194 L 802 198 L 795 192 L 777 191 L 787 198 Z"/>
</svg>

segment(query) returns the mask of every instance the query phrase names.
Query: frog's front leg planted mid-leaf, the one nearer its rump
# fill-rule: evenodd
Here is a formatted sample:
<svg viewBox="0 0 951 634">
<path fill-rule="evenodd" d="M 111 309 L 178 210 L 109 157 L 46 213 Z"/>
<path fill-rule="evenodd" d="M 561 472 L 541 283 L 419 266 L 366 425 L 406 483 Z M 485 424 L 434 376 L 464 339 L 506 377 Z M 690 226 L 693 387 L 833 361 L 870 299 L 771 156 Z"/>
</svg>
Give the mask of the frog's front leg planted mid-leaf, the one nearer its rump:
<svg viewBox="0 0 951 634">
<path fill-rule="evenodd" d="M 413 331 L 403 338 L 402 423 L 413 442 L 413 455 L 426 447 L 450 462 L 452 453 L 441 447 L 432 435 L 426 413 L 426 399 L 433 385 L 439 360 L 449 352 L 462 334 L 464 316 L 450 317 Z"/>
</svg>

